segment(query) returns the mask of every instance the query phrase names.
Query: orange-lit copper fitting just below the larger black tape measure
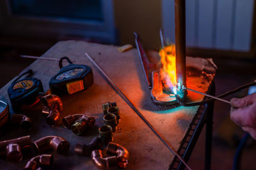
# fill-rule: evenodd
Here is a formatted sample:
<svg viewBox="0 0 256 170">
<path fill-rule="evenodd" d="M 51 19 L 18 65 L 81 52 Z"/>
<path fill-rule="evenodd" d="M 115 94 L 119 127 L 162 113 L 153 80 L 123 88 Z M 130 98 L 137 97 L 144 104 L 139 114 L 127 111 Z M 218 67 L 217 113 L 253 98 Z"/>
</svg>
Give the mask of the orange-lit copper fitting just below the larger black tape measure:
<svg viewBox="0 0 256 170">
<path fill-rule="evenodd" d="M 55 125 L 60 119 L 60 112 L 63 110 L 63 103 L 59 96 L 48 94 L 41 98 L 43 104 L 42 115 L 46 117 L 49 125 Z"/>
</svg>

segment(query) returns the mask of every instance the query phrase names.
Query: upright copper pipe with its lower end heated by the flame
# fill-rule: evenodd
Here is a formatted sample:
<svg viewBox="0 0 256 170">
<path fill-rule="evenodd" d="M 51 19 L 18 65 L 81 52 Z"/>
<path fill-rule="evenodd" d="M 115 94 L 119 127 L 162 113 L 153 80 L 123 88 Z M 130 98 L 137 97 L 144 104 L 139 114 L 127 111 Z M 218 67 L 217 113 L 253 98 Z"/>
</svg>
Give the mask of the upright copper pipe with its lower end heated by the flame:
<svg viewBox="0 0 256 170">
<path fill-rule="evenodd" d="M 174 0 L 175 3 L 175 51 L 177 94 L 186 98 L 186 1 Z"/>
</svg>

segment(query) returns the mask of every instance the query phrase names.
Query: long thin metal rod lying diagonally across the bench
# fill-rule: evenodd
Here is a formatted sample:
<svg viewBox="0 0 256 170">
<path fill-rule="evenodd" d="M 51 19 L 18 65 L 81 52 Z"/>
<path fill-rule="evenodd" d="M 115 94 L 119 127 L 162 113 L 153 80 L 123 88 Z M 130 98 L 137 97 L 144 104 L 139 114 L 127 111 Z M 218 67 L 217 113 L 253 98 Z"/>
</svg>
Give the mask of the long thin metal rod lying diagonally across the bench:
<svg viewBox="0 0 256 170">
<path fill-rule="evenodd" d="M 120 96 L 125 100 L 125 102 L 132 108 L 132 110 L 134 110 L 134 112 L 141 118 L 141 120 L 143 120 L 143 122 L 151 129 L 152 132 L 154 132 L 154 134 L 156 134 L 156 136 L 164 143 L 164 145 L 172 152 L 174 153 L 181 162 L 183 162 L 183 164 L 188 167 L 189 170 L 191 170 L 191 168 L 188 166 L 188 164 L 186 164 L 186 162 L 182 159 L 182 157 L 180 157 L 179 153 L 175 150 L 175 148 L 173 148 L 173 146 L 167 141 L 167 139 L 165 139 L 161 134 L 159 134 L 159 132 L 157 132 L 157 130 L 150 124 L 150 122 L 148 122 L 148 120 L 140 113 L 140 111 L 134 106 L 134 104 L 132 103 L 132 101 L 125 96 L 125 94 L 115 85 L 115 83 L 108 77 L 108 75 L 106 73 L 104 73 L 104 71 L 100 68 L 100 66 L 98 66 L 98 64 L 90 57 L 90 55 L 88 55 L 88 53 L 84 53 L 84 55 L 86 55 L 86 57 L 88 57 L 88 59 L 94 64 L 95 67 L 97 67 L 97 69 L 99 69 L 100 73 L 103 74 L 104 78 L 106 78 L 108 80 L 108 82 L 111 84 L 111 86 L 113 87 L 113 89 L 116 90 L 116 92 L 118 92 L 118 94 L 120 94 Z"/>
</svg>

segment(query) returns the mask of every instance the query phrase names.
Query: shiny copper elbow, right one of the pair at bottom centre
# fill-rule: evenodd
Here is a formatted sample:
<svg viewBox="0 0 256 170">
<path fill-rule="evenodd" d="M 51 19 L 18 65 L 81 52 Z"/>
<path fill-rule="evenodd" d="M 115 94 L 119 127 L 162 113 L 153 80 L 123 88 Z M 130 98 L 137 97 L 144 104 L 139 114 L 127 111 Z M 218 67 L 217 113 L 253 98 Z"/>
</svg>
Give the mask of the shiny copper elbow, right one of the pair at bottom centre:
<svg viewBox="0 0 256 170">
<path fill-rule="evenodd" d="M 128 166 L 129 152 L 123 146 L 109 142 L 106 150 L 108 154 L 116 155 L 118 167 L 124 168 Z"/>
</svg>

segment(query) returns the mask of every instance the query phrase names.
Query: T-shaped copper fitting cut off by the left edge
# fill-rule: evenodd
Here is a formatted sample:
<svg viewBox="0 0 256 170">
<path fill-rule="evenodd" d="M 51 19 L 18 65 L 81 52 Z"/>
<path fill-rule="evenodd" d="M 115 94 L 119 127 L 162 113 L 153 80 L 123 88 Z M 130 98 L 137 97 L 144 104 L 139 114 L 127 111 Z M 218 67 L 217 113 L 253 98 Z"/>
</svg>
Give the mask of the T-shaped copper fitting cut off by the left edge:
<svg viewBox="0 0 256 170">
<path fill-rule="evenodd" d="M 22 152 L 29 149 L 31 149 L 30 136 L 0 142 L 0 156 L 6 155 L 7 159 L 13 162 L 22 160 Z"/>
</svg>

